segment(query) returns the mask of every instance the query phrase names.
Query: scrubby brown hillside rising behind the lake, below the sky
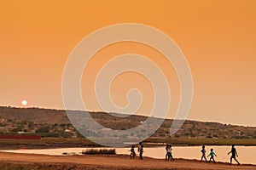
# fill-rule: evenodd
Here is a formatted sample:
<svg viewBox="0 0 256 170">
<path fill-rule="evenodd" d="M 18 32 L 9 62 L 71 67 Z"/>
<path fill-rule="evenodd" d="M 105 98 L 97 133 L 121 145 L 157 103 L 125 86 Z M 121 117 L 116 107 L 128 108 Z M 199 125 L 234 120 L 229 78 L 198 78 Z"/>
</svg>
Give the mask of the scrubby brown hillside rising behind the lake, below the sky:
<svg viewBox="0 0 256 170">
<path fill-rule="evenodd" d="M 147 119 L 146 116 L 120 118 L 103 112 L 92 112 L 90 115 L 103 126 L 119 130 L 137 127 Z M 171 124 L 171 119 L 166 120 L 152 138 L 168 138 Z M 43 137 L 79 136 L 65 111 L 13 107 L 0 107 L 0 133 L 38 133 Z M 137 135 L 143 135 L 143 132 Z M 177 133 L 172 135 L 172 138 L 256 139 L 256 127 L 185 121 Z"/>
</svg>

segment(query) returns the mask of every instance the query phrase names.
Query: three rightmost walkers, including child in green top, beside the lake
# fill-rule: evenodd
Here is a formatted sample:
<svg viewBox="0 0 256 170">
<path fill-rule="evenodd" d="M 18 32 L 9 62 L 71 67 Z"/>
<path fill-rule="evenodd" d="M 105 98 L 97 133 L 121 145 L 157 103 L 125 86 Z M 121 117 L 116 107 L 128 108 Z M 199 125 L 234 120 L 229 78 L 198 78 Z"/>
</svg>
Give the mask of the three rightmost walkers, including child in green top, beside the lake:
<svg viewBox="0 0 256 170">
<path fill-rule="evenodd" d="M 202 145 L 201 153 L 202 153 L 201 161 L 203 160 L 203 158 L 207 161 L 207 157 L 211 156 L 209 162 L 213 161 L 214 163 L 216 163 L 216 161 L 214 160 L 214 156 L 217 156 L 217 155 L 213 152 L 213 149 L 211 149 L 210 154 L 206 157 L 206 153 L 207 153 L 206 146 Z M 232 148 L 228 153 L 228 155 L 230 155 L 230 153 L 231 153 L 230 164 L 232 164 L 232 160 L 234 159 L 237 162 L 237 164 L 240 165 L 240 162 L 236 160 L 236 156 L 238 157 L 238 154 L 236 152 L 236 148 L 234 144 L 232 144 Z"/>
</svg>

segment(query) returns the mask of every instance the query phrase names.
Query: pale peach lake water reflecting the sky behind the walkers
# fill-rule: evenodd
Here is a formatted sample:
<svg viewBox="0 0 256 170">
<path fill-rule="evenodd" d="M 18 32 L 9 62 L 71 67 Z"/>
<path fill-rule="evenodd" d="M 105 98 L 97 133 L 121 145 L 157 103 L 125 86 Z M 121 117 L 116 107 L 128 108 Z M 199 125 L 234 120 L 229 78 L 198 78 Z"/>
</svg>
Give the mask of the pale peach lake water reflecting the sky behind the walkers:
<svg viewBox="0 0 256 170">
<path fill-rule="evenodd" d="M 230 162 L 230 155 L 228 152 L 231 150 L 231 146 L 206 146 L 207 155 L 210 153 L 210 149 L 216 153 L 215 161 Z M 42 150 L 1 150 L 14 153 L 32 153 L 32 154 L 44 154 L 60 156 L 63 152 L 79 154 L 86 148 L 59 148 L 59 149 L 42 149 Z M 185 159 L 201 159 L 201 146 L 174 146 L 172 147 L 172 156 L 174 158 Z M 130 148 L 116 148 L 117 154 L 130 154 Z M 240 163 L 256 164 L 256 146 L 236 146 L 238 153 L 237 160 Z M 137 151 L 137 150 L 136 150 Z M 143 156 L 165 159 L 166 149 L 165 147 L 144 148 Z M 235 163 L 235 161 L 233 160 Z"/>
</svg>

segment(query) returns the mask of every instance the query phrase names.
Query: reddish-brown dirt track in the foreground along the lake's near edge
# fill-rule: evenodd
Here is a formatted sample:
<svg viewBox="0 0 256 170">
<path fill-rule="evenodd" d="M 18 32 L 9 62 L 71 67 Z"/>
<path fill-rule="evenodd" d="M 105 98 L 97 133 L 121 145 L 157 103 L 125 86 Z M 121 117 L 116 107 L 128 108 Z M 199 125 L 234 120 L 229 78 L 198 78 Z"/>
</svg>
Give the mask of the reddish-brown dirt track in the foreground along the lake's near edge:
<svg viewBox="0 0 256 170">
<path fill-rule="evenodd" d="M 177 159 L 165 161 L 145 157 L 131 160 L 129 156 L 46 156 L 0 152 L 0 169 L 256 169 L 255 165 L 229 165 Z"/>
</svg>

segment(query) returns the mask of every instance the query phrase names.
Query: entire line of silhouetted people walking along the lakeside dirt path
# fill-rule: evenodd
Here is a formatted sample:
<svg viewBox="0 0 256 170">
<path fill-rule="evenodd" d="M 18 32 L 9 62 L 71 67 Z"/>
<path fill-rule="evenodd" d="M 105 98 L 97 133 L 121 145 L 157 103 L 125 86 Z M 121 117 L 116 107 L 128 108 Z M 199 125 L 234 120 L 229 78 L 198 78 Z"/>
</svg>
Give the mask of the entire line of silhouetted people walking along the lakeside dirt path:
<svg viewBox="0 0 256 170">
<path fill-rule="evenodd" d="M 137 151 L 139 153 L 139 159 L 140 160 L 143 160 L 143 143 L 140 142 L 138 144 L 138 147 L 137 147 Z M 207 157 L 210 156 L 210 159 L 209 161 L 207 162 L 211 162 L 213 161 L 214 163 L 216 163 L 216 161 L 214 160 L 214 156 L 217 156 L 213 149 L 210 150 L 210 154 L 208 156 L 206 156 L 206 153 L 207 153 L 207 150 L 206 150 L 206 146 L 205 145 L 202 145 L 202 149 L 201 149 L 201 161 L 203 161 L 203 159 L 205 159 L 207 161 Z M 238 154 L 236 152 L 236 148 L 235 148 L 235 145 L 233 144 L 232 145 L 232 149 L 230 150 L 230 152 L 228 153 L 228 155 L 230 155 L 231 153 L 231 157 L 230 157 L 230 164 L 232 164 L 232 160 L 234 159 L 238 165 L 240 165 L 240 162 L 236 160 L 236 156 L 238 157 Z M 131 159 L 134 159 L 134 157 L 136 156 L 136 152 L 135 152 L 135 145 L 133 144 L 131 146 Z M 174 161 L 174 158 L 172 156 L 172 144 L 166 144 L 166 161 Z"/>
</svg>

